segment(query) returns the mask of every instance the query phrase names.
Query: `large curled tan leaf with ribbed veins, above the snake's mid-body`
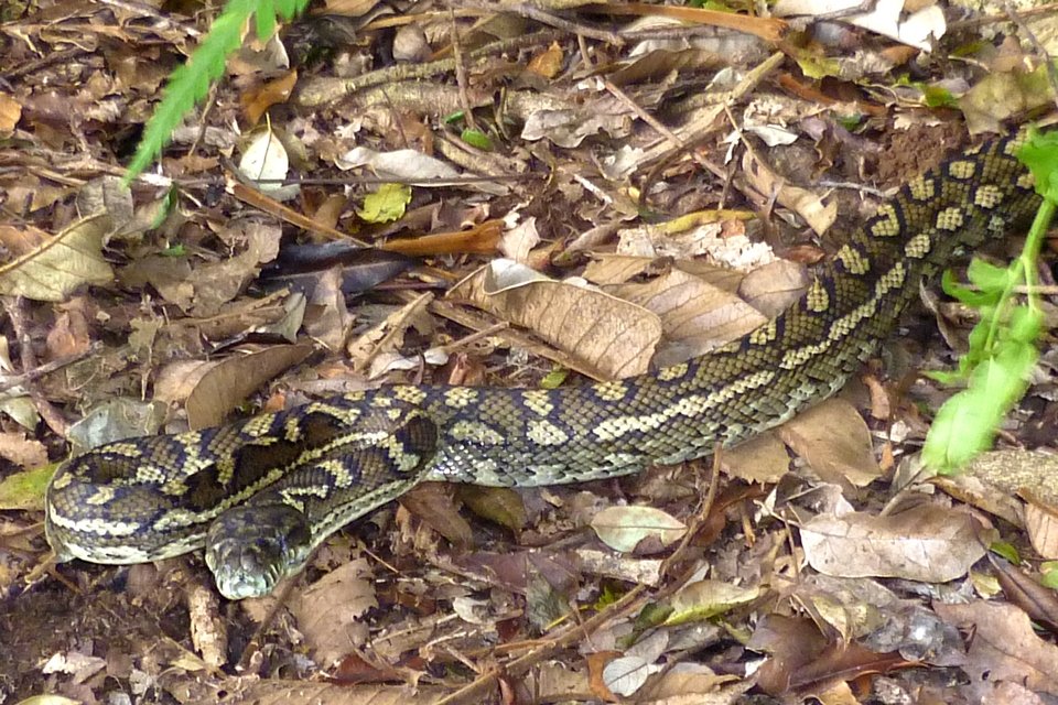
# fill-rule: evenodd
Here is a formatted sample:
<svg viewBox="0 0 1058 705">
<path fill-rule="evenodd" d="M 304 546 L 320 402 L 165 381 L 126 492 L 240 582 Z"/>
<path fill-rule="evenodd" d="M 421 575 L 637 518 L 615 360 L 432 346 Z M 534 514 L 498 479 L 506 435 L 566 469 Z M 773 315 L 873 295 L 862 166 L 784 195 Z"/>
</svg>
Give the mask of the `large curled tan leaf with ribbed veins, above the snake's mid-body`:
<svg viewBox="0 0 1058 705">
<path fill-rule="evenodd" d="M 646 372 L 661 338 L 661 322 L 649 311 L 510 260 L 477 270 L 449 295 L 532 329 L 597 369 L 601 379 Z"/>
</svg>

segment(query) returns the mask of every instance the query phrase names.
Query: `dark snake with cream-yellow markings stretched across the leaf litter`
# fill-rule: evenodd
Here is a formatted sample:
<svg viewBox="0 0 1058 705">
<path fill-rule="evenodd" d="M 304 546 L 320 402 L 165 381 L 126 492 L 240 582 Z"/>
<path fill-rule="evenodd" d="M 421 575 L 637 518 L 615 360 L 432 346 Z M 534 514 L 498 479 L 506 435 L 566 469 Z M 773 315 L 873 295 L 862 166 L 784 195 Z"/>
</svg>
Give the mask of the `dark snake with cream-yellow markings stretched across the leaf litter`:
<svg viewBox="0 0 1058 705">
<path fill-rule="evenodd" d="M 672 465 L 736 445 L 840 390 L 957 249 L 1040 203 L 994 138 L 904 184 L 807 292 L 708 355 L 550 389 L 391 384 L 177 434 L 111 442 L 45 492 L 58 561 L 130 564 L 205 546 L 229 599 L 267 595 L 354 519 L 427 481 L 535 487 Z"/>
</svg>

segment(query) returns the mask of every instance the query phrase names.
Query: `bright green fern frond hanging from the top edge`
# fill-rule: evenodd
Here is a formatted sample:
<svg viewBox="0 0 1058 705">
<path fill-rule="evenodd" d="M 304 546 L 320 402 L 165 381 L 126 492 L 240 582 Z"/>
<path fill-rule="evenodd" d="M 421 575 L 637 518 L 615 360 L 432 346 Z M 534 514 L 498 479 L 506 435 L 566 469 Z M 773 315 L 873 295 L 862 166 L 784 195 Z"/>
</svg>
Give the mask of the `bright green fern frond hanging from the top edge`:
<svg viewBox="0 0 1058 705">
<path fill-rule="evenodd" d="M 128 185 L 162 153 L 183 117 L 206 97 L 209 86 L 224 74 L 228 55 L 241 45 L 242 29 L 251 17 L 256 15 L 257 35 L 264 41 L 276 32 L 277 17 L 290 20 L 307 6 L 309 0 L 228 0 L 187 62 L 169 77 L 162 101 L 143 130 L 123 183 Z"/>
</svg>

